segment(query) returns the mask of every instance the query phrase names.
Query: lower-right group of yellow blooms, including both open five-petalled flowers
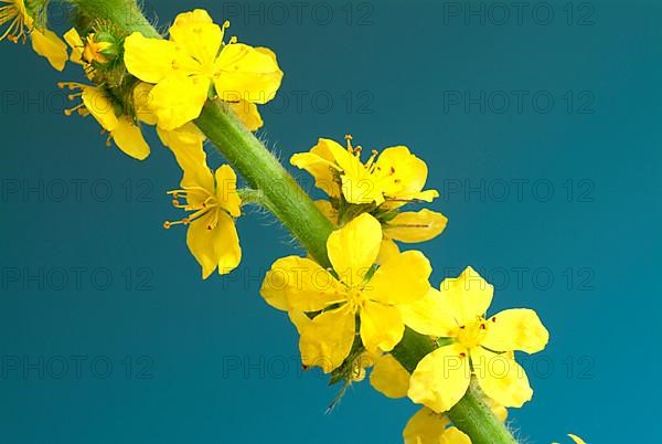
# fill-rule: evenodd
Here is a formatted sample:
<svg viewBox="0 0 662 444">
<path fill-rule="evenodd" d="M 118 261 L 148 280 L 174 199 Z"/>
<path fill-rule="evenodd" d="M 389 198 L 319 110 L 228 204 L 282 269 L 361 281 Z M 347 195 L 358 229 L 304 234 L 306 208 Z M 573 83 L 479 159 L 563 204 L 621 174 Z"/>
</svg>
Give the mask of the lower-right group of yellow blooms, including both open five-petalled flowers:
<svg viewBox="0 0 662 444">
<path fill-rule="evenodd" d="M 433 288 L 424 254 L 401 252 L 393 242 L 426 241 L 446 226 L 447 219 L 428 209 L 401 212 L 438 195 L 424 190 L 426 163 L 402 146 L 373 151 L 365 162 L 361 151 L 346 136 L 346 147 L 320 139 L 309 152 L 292 156 L 291 163 L 310 172 L 329 197 L 317 203 L 338 226 L 327 242 L 332 268 L 311 258 L 280 258 L 261 295 L 289 314 L 306 367 L 349 374 L 348 382 L 355 381 L 357 367 L 374 367 L 371 382 L 378 391 L 424 405 L 407 424 L 405 442 L 470 442 L 444 413 L 472 380 L 496 409 L 531 400 L 515 351 L 541 351 L 548 332 L 531 309 L 488 316 L 493 287 L 471 267 Z M 412 374 L 388 355 L 405 327 L 438 345 Z M 357 366 L 365 353 L 372 362 Z"/>
</svg>

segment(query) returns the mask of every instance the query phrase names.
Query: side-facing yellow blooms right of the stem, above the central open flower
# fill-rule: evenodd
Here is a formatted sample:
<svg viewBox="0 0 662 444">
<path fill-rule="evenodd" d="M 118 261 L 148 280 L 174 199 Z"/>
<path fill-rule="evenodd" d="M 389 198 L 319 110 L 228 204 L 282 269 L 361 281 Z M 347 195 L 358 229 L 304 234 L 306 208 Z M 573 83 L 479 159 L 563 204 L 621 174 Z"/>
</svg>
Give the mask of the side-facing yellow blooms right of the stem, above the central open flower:
<svg viewBox="0 0 662 444">
<path fill-rule="evenodd" d="M 362 162 L 362 148 L 352 146 L 352 136 L 345 139 L 346 148 L 319 139 L 309 152 L 290 159 L 312 175 L 316 186 L 329 195 L 317 204 L 335 225 L 342 226 L 363 212 L 373 214 L 382 224 L 383 235 L 377 262 L 399 251 L 394 241 L 425 242 L 441 234 L 448 222 L 444 214 L 428 209 L 402 211 L 407 203 L 431 202 L 439 195 L 437 190 L 423 190 L 428 169 L 421 159 L 407 147 L 397 146 L 382 154 L 373 150 Z"/>
</svg>

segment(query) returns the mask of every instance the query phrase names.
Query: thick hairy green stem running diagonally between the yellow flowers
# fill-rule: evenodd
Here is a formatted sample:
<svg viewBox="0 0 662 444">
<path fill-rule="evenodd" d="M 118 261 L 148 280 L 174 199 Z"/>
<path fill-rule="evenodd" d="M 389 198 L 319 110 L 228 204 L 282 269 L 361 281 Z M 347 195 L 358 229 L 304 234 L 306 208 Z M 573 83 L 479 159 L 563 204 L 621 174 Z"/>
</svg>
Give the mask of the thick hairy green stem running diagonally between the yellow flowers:
<svg viewBox="0 0 662 444">
<path fill-rule="evenodd" d="M 135 0 L 70 0 L 84 19 L 105 19 L 127 33 L 139 31 L 159 38 L 142 15 Z M 327 237 L 333 230 L 310 197 L 285 170 L 263 144 L 248 131 L 236 116 L 220 103 L 207 103 L 195 124 L 225 156 L 227 161 L 256 190 L 264 193 L 266 207 L 299 240 L 310 255 L 328 267 Z M 257 195 L 254 195 L 257 197 Z M 393 356 L 409 371 L 433 351 L 430 338 L 407 329 Z M 506 427 L 481 401 L 480 390 L 472 384 L 448 416 L 473 444 L 516 444 Z"/>
</svg>

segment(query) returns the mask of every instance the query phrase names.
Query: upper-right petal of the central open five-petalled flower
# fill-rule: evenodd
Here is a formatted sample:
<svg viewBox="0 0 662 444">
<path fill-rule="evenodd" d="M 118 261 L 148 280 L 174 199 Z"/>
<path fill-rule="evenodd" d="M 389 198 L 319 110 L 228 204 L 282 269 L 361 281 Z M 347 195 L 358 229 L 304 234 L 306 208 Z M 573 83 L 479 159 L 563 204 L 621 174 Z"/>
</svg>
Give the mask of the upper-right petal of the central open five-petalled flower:
<svg viewBox="0 0 662 444">
<path fill-rule="evenodd" d="M 370 279 L 365 287 L 369 298 L 384 304 L 412 304 L 430 289 L 430 262 L 418 251 L 392 256 Z"/>
</svg>

